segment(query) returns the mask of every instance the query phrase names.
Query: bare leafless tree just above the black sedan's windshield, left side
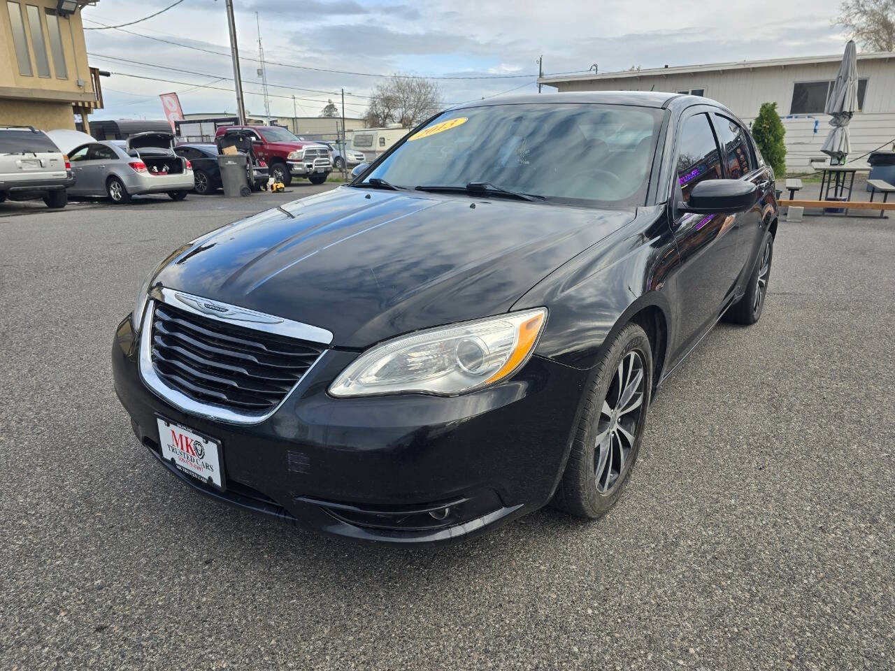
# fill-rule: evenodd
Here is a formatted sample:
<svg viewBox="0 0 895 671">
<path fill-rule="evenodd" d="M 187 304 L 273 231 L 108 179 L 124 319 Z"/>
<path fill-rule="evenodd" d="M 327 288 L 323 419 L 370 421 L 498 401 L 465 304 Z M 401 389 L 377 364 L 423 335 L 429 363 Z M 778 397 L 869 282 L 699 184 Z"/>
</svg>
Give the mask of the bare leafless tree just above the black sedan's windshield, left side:
<svg viewBox="0 0 895 671">
<path fill-rule="evenodd" d="M 365 121 L 374 128 L 389 123 L 412 128 L 440 108 L 441 91 L 435 81 L 393 74 L 373 89 Z"/>
</svg>

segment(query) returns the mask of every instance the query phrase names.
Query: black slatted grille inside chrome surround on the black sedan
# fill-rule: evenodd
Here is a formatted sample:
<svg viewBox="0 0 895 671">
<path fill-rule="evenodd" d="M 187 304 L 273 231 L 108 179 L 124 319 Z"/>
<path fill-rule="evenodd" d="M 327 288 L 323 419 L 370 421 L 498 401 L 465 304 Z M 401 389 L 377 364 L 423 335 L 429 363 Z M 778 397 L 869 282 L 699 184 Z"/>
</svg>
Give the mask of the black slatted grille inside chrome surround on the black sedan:
<svg viewBox="0 0 895 671">
<path fill-rule="evenodd" d="M 272 410 L 322 352 L 315 344 L 156 303 L 152 366 L 166 385 L 200 403 Z"/>
</svg>

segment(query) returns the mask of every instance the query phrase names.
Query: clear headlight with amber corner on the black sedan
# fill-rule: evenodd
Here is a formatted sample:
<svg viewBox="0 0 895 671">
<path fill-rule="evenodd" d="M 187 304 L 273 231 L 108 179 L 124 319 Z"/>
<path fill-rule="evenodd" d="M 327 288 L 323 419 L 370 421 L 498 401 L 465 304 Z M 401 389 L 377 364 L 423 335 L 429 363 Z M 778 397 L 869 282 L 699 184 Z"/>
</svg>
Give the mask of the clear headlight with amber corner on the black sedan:
<svg viewBox="0 0 895 671">
<path fill-rule="evenodd" d="M 329 394 L 456 395 L 492 385 L 528 361 L 546 321 L 536 308 L 402 335 L 362 353 Z"/>
</svg>

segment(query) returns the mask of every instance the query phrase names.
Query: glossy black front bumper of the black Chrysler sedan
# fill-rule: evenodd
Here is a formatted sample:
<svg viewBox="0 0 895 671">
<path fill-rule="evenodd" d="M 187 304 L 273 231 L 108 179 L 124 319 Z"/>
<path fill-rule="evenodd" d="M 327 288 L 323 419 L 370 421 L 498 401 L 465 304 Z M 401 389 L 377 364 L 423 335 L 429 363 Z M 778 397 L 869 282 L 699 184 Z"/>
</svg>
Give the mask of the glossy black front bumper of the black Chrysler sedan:
<svg viewBox="0 0 895 671">
<path fill-rule="evenodd" d="M 201 492 L 331 535 L 396 545 L 469 537 L 545 505 L 575 426 L 584 373 L 534 357 L 498 386 L 456 397 L 335 399 L 357 356 L 323 354 L 267 420 L 240 426 L 183 412 L 142 382 L 130 319 L 113 345 L 115 391 L 159 461 L 158 415 L 221 441 L 226 491 Z"/>
</svg>

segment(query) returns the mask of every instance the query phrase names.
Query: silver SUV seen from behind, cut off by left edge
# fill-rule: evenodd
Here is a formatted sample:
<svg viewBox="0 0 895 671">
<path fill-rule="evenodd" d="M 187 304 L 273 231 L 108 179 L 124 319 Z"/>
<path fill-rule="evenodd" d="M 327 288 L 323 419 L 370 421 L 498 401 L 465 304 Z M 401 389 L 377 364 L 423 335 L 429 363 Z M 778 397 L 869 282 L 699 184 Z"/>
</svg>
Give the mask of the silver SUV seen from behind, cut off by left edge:
<svg viewBox="0 0 895 671">
<path fill-rule="evenodd" d="M 0 203 L 41 199 L 64 208 L 74 183 L 71 166 L 47 134 L 30 126 L 0 126 Z"/>
</svg>

